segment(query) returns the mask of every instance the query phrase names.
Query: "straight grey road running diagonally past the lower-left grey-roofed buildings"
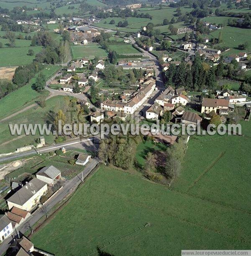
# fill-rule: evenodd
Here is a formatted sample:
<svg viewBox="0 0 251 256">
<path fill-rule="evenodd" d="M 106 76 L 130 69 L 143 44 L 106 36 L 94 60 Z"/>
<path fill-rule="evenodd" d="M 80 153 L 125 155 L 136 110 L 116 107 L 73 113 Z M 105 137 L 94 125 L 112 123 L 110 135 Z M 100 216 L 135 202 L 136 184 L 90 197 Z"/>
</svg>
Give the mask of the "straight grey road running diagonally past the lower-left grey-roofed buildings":
<svg viewBox="0 0 251 256">
<path fill-rule="evenodd" d="M 97 159 L 91 159 L 87 167 L 82 171 L 83 173 L 83 179 L 90 174 L 90 172 L 98 165 Z M 84 167 L 83 167 L 84 168 Z M 71 180 L 67 180 L 61 190 L 59 190 L 58 193 L 56 193 L 55 196 L 53 196 L 51 199 L 49 199 L 43 206 L 43 208 L 37 209 L 29 219 L 27 219 L 25 222 L 23 222 L 17 230 L 20 231 L 20 233 L 24 234 L 26 231 L 31 230 L 31 227 L 38 222 L 41 217 L 43 217 L 49 210 L 51 210 L 56 204 L 61 202 L 64 197 L 68 196 L 74 190 L 77 188 L 77 186 L 82 182 L 82 173 L 79 173 Z M 13 232 L 13 236 L 16 235 L 15 231 Z M 17 236 L 17 235 L 16 235 Z M 9 248 L 10 243 L 13 242 L 13 238 L 9 237 L 3 241 L 0 245 L 0 255 L 5 253 L 5 251 Z"/>
</svg>

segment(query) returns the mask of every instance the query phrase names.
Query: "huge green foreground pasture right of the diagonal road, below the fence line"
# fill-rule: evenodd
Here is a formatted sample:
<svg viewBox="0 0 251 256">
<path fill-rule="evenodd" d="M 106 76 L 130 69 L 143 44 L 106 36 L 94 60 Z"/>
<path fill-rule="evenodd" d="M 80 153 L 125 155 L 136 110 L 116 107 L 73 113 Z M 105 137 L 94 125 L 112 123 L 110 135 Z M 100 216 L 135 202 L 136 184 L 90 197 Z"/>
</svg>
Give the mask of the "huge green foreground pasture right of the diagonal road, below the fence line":
<svg viewBox="0 0 251 256">
<path fill-rule="evenodd" d="M 102 255 L 174 256 L 182 249 L 248 249 L 250 225 L 250 212 L 100 167 L 30 239 L 56 255 L 101 255 L 99 248 Z"/>
</svg>

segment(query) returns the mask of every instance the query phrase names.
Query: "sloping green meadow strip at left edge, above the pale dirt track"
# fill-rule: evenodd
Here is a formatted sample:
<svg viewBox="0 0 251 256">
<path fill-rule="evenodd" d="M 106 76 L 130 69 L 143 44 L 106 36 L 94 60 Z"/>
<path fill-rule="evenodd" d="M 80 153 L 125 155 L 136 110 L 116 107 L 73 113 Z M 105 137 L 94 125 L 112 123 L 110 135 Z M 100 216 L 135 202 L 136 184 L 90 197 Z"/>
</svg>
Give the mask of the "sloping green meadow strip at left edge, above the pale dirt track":
<svg viewBox="0 0 251 256">
<path fill-rule="evenodd" d="M 47 66 L 43 71 L 46 78 L 50 78 L 56 71 L 58 71 L 60 66 Z M 44 91 L 44 94 L 40 94 L 31 88 L 32 84 L 36 80 L 32 78 L 31 81 L 18 90 L 11 92 L 2 99 L 0 99 L 0 118 L 5 118 L 18 110 L 33 104 L 35 101 L 39 100 L 41 96 L 48 95 L 48 91 Z M 18 99 L 18 100 L 17 100 Z M 21 119 L 21 118 L 20 118 Z"/>
</svg>

